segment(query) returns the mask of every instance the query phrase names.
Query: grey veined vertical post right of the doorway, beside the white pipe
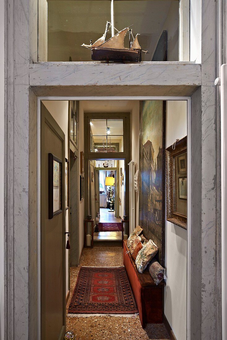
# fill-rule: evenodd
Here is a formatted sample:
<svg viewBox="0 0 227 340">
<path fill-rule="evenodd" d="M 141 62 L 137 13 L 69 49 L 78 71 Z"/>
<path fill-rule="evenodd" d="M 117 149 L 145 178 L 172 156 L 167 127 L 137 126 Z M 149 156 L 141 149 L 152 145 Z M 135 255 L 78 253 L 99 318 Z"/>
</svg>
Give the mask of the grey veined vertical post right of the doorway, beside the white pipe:
<svg viewBox="0 0 227 340">
<path fill-rule="evenodd" d="M 220 208 L 217 182 L 217 77 L 215 1 L 202 0 L 201 54 L 201 339 L 221 339 L 220 276 L 217 254 L 220 252 L 218 219 Z M 205 20 L 207 18 L 207 21 Z M 209 24 L 208 24 L 209 20 Z"/>
</svg>

